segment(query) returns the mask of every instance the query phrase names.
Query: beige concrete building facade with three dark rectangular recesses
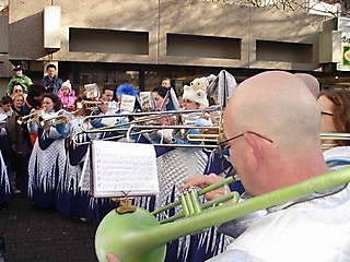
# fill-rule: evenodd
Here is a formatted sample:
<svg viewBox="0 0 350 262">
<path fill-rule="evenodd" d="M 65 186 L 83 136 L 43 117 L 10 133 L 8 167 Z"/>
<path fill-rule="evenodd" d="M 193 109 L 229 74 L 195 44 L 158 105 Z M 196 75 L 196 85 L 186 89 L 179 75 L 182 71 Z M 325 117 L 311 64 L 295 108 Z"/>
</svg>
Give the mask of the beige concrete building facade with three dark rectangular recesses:
<svg viewBox="0 0 350 262">
<path fill-rule="evenodd" d="M 36 80 L 49 62 L 74 87 L 131 82 L 141 90 L 229 70 L 322 71 L 329 16 L 200 0 L 10 0 L 8 57 Z"/>
</svg>

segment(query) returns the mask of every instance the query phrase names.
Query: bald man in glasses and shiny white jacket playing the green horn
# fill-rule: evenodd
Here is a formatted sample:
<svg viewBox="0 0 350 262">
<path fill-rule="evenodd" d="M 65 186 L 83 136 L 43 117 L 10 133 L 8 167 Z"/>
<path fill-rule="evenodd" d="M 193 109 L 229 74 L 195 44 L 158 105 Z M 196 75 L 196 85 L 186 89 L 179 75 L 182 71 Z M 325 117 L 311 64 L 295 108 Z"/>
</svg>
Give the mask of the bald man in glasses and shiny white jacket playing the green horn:
<svg viewBox="0 0 350 262">
<path fill-rule="evenodd" d="M 271 71 L 242 82 L 224 111 L 220 145 L 253 196 L 328 172 L 320 144 L 320 111 L 295 75 Z M 222 178 L 195 176 L 185 188 L 206 188 Z M 206 194 L 221 196 L 224 188 Z M 234 221 L 232 222 L 234 223 Z M 350 188 L 318 192 L 267 210 L 212 262 L 348 261 L 350 258 Z M 244 224 L 244 223 L 243 223 Z M 113 253 L 109 262 L 118 261 Z"/>
</svg>

